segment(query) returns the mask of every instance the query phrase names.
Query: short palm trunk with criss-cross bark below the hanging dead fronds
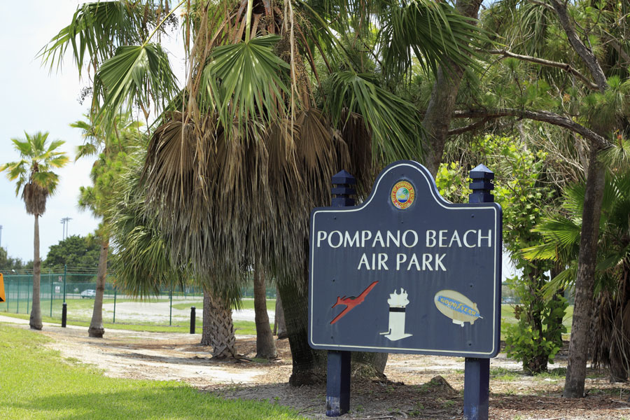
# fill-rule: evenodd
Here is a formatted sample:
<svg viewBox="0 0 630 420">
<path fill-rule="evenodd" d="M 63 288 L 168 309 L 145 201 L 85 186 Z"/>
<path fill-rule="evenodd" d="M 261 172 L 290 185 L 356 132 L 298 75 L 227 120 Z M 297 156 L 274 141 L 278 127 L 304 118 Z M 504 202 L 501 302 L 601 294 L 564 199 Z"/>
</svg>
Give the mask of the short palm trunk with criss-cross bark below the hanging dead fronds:
<svg viewBox="0 0 630 420">
<path fill-rule="evenodd" d="M 230 305 L 204 288 L 203 312 L 201 344 L 212 346 L 213 358 L 236 358 L 236 337 Z"/>
</svg>

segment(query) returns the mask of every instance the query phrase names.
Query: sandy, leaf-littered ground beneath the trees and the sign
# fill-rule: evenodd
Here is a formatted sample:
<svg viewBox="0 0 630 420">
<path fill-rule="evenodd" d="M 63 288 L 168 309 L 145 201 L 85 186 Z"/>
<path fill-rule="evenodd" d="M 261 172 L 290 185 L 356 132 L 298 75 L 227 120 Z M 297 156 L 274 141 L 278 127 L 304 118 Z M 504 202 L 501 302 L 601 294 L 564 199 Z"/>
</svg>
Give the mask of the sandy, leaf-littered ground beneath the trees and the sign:
<svg viewBox="0 0 630 420">
<path fill-rule="evenodd" d="M 118 307 L 117 307 L 118 311 Z M 28 321 L 0 316 L 1 323 L 28 328 Z M 185 381 L 223 398 L 267 400 L 294 407 L 311 419 L 325 418 L 325 386 L 288 386 L 287 340 L 276 341 L 279 358 L 257 361 L 255 337 L 237 336 L 237 350 L 250 360 L 213 360 L 200 335 L 107 330 L 103 339 L 87 328 L 45 325 L 41 334 L 69 363 L 90 363 L 111 377 Z M 566 366 L 566 353 L 550 368 Z M 342 419 L 461 419 L 463 358 L 390 355 L 387 380 L 353 381 L 351 411 Z M 590 371 L 587 397 L 561 398 L 562 376 L 526 377 L 504 353 L 491 360 L 490 419 L 630 419 L 630 386 L 609 384 Z M 434 379 L 441 377 L 442 379 Z M 433 381 L 432 381 L 433 379 Z"/>
</svg>

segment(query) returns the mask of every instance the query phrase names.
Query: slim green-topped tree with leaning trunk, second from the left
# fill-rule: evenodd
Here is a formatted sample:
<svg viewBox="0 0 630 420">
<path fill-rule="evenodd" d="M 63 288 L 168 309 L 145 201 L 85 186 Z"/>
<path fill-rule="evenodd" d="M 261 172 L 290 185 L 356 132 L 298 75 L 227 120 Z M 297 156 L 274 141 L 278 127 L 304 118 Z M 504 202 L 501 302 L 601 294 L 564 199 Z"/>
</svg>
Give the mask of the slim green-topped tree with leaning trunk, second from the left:
<svg viewBox="0 0 630 420">
<path fill-rule="evenodd" d="M 116 118 L 116 130 L 106 132 L 98 121 L 76 121 L 71 127 L 83 131 L 85 143 L 79 146 L 76 159 L 98 155 L 94 162 L 90 178 L 92 186 L 81 187 L 79 195 L 79 208 L 92 211 L 95 217 L 103 217 L 108 203 L 113 200 L 113 180 L 124 169 L 127 153 L 130 149 L 140 144 L 140 124 L 130 120 L 129 116 L 120 115 Z M 99 255 L 99 269 L 97 274 L 96 295 L 92 320 L 87 334 L 90 337 L 103 337 L 103 295 L 105 291 L 105 279 L 107 276 L 107 255 L 109 253 L 109 229 L 106 223 L 99 226 L 99 238 L 101 239 L 101 251 Z"/>
</svg>

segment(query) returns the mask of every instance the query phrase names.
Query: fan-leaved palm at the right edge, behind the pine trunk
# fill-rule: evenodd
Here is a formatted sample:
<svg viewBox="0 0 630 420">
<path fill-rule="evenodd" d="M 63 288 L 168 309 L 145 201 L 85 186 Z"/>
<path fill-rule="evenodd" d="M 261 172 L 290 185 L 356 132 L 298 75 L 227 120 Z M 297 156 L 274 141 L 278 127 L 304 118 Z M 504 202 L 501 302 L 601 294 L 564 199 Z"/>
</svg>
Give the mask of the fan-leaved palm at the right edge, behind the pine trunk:
<svg viewBox="0 0 630 420">
<path fill-rule="evenodd" d="M 630 149 L 630 142 L 625 142 Z M 590 348 L 593 361 L 610 369 L 612 381 L 625 381 L 630 372 L 630 334 L 624 325 L 630 322 L 630 170 L 627 162 L 613 169 L 605 179 L 602 213 L 599 221 L 598 255 L 596 255 L 596 314 Z M 554 290 L 575 287 L 584 207 L 584 182 L 567 188 L 563 195 L 563 214 L 548 216 L 535 228 L 545 244 L 526 249 L 533 260 L 552 260 L 566 266 L 545 288 Z"/>
</svg>

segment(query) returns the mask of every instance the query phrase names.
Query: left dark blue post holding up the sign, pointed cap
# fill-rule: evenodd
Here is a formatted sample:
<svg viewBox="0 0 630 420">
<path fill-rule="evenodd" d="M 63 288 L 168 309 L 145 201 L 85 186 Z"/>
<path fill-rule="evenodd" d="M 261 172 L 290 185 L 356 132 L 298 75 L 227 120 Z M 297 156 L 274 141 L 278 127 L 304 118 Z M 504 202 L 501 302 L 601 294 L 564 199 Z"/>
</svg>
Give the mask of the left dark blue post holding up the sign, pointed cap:
<svg viewBox="0 0 630 420">
<path fill-rule="evenodd" d="M 351 195 L 356 194 L 354 176 L 346 171 L 332 176 L 332 207 L 354 205 Z M 335 197 L 336 196 L 336 197 Z M 350 410 L 350 361 L 349 351 L 328 351 L 326 367 L 326 416 L 337 417 Z"/>
</svg>

